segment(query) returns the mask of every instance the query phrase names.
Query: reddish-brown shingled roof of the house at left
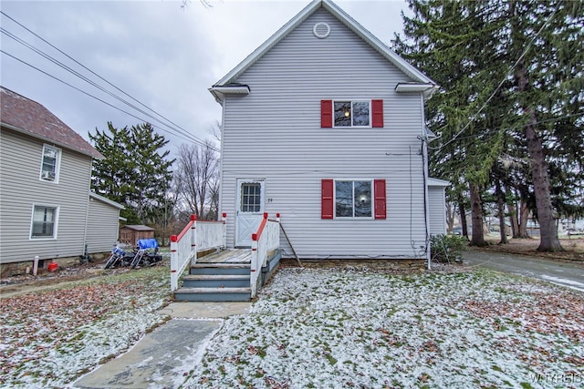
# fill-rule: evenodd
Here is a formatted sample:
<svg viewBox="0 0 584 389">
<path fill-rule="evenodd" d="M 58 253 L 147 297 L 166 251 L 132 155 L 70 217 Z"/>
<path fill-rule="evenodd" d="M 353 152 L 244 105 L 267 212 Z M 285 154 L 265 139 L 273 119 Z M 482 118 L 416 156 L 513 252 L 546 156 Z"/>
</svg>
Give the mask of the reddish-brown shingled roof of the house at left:
<svg viewBox="0 0 584 389">
<path fill-rule="evenodd" d="M 0 123 L 3 127 L 78 151 L 91 158 L 103 159 L 87 140 L 36 101 L 5 87 L 0 87 L 0 100 Z"/>
</svg>

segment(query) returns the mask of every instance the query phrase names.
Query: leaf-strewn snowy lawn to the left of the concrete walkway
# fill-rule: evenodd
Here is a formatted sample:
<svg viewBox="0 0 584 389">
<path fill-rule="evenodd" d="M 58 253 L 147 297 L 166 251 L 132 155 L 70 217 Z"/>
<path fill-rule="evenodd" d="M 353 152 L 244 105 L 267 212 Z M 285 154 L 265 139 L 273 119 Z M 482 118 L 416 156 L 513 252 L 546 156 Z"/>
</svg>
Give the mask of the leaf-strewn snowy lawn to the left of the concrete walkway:
<svg viewBox="0 0 584 389">
<path fill-rule="evenodd" d="M 0 300 L 0 387 L 66 387 L 168 320 L 168 266 Z"/>
</svg>

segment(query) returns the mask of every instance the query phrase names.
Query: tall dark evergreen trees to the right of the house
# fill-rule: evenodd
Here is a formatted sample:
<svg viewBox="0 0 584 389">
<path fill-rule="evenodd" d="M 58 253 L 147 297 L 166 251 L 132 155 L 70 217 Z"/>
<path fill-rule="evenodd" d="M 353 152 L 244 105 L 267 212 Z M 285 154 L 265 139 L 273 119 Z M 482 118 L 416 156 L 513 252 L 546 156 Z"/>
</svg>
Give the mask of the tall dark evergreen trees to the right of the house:
<svg viewBox="0 0 584 389">
<path fill-rule="evenodd" d="M 560 218 L 584 216 L 584 3 L 539 0 L 407 0 L 393 49 L 441 90 L 426 118 L 431 175 L 452 182 L 449 220 L 472 213 L 485 245 L 489 207 L 514 237 L 527 218 L 539 251 L 563 250 Z M 452 225 L 451 225 L 452 227 Z"/>
</svg>

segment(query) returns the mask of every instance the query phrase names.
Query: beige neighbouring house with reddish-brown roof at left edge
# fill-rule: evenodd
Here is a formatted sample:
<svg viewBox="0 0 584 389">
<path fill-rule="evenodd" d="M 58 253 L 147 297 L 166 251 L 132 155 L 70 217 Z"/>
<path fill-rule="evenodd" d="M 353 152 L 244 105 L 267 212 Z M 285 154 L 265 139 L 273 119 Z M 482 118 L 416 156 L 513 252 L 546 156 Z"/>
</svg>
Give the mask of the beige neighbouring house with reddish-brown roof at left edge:
<svg viewBox="0 0 584 389">
<path fill-rule="evenodd" d="M 46 107 L 0 87 L 0 264 L 110 251 L 123 207 L 89 192 L 103 156 Z"/>
</svg>

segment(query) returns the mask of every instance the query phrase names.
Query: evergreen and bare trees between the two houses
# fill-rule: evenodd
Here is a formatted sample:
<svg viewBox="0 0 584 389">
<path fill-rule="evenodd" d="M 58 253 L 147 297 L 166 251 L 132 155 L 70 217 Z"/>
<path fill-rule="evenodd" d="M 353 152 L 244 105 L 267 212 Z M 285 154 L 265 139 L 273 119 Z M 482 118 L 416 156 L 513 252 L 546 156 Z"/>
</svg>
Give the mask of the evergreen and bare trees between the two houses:
<svg viewBox="0 0 584 389">
<path fill-rule="evenodd" d="M 217 218 L 219 156 L 211 141 L 183 144 L 171 159 L 169 141 L 149 123 L 131 128 L 108 123 L 89 139 L 105 157 L 93 163 L 91 189 L 125 207 L 120 212 L 125 224 L 148 225 L 167 244 L 191 214 Z"/>
</svg>

